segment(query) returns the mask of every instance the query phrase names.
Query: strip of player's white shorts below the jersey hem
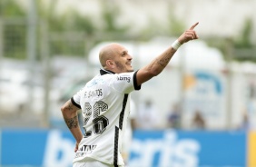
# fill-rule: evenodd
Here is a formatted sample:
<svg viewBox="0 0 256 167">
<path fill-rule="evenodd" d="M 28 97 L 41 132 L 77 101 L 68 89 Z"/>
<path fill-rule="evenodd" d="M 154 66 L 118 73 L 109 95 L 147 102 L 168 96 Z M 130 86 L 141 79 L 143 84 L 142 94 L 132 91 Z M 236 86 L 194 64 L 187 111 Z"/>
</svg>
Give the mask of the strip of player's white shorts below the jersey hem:
<svg viewBox="0 0 256 167">
<path fill-rule="evenodd" d="M 94 159 L 87 158 L 86 161 L 74 162 L 73 167 L 114 167 L 113 164 L 99 162 Z M 123 166 L 119 166 L 123 167 Z"/>
</svg>

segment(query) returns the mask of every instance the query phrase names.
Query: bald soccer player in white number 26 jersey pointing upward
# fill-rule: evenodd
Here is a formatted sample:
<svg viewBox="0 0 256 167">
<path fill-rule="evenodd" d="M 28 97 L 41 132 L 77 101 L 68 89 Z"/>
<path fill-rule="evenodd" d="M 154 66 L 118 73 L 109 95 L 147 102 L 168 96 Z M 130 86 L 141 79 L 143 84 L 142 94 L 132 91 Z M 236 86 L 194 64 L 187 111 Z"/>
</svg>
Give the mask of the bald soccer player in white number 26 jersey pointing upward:
<svg viewBox="0 0 256 167">
<path fill-rule="evenodd" d="M 100 74 L 85 84 L 61 108 L 64 121 L 76 140 L 74 167 L 124 166 L 123 132 L 130 111 L 129 93 L 160 74 L 173 54 L 184 43 L 198 39 L 193 30 L 186 30 L 169 48 L 150 64 L 133 71 L 133 57 L 121 44 L 108 44 L 99 54 Z M 82 109 L 84 134 L 79 128 L 77 111 Z"/>
</svg>

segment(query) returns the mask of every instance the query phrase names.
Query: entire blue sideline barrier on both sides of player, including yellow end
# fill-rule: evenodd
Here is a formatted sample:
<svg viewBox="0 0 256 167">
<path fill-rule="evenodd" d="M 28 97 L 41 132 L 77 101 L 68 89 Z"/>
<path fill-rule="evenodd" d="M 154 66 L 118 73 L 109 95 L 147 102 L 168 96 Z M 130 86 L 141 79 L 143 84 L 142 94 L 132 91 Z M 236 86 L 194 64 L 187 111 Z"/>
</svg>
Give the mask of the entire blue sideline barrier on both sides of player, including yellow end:
<svg viewBox="0 0 256 167">
<path fill-rule="evenodd" d="M 69 131 L 0 132 L 0 166 L 72 166 L 75 142 Z M 255 153 L 256 133 L 135 131 L 129 167 L 255 167 Z"/>
</svg>

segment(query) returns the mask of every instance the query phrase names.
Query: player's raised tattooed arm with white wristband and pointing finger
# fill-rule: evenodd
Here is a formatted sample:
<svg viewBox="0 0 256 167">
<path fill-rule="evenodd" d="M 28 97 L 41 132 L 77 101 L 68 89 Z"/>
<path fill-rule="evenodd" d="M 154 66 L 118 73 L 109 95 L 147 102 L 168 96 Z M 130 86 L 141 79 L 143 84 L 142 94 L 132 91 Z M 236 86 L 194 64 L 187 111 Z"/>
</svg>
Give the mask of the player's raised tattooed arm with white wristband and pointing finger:
<svg viewBox="0 0 256 167">
<path fill-rule="evenodd" d="M 156 76 L 162 72 L 165 66 L 172 59 L 173 54 L 176 53 L 177 49 L 184 43 L 198 39 L 198 35 L 193 30 L 196 23 L 192 27 L 186 30 L 169 48 L 167 48 L 162 54 L 158 55 L 150 64 L 144 66 L 137 73 L 137 84 L 141 85 L 142 83 L 150 80 L 153 76 Z"/>
</svg>

